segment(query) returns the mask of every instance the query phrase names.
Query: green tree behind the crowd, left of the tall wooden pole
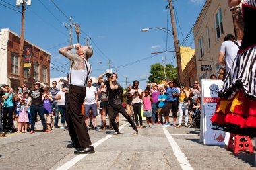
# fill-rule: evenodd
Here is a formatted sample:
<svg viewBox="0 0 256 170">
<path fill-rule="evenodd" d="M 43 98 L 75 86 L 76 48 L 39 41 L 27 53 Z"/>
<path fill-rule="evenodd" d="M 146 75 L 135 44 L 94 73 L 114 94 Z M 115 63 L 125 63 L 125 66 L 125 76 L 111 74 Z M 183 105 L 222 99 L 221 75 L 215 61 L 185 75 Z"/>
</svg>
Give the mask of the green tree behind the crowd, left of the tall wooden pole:
<svg viewBox="0 0 256 170">
<path fill-rule="evenodd" d="M 167 80 L 177 80 L 178 74 L 177 74 L 177 68 L 174 68 L 173 65 L 168 64 L 165 67 L 166 71 L 166 78 Z M 148 82 L 154 82 L 154 83 L 160 83 L 165 79 L 164 77 L 164 66 L 160 63 L 156 63 L 154 65 L 151 65 L 150 68 L 150 76 L 148 77 Z"/>
</svg>

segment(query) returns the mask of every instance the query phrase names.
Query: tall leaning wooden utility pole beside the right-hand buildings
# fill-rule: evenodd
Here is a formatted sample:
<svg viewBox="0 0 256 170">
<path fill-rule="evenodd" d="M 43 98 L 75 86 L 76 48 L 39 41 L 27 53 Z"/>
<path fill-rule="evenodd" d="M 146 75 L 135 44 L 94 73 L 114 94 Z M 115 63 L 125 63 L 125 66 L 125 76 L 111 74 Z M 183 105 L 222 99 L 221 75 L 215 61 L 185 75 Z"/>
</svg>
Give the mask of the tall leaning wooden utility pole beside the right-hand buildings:
<svg viewBox="0 0 256 170">
<path fill-rule="evenodd" d="M 175 46 L 176 60 L 177 60 L 178 79 L 179 79 L 179 83 L 183 83 L 183 77 L 182 77 L 182 71 L 181 71 L 181 53 L 179 50 L 179 42 L 177 38 L 172 0 L 169 0 L 169 7 L 170 7 L 170 18 L 172 22 L 172 34 L 174 39 L 174 46 Z"/>
</svg>

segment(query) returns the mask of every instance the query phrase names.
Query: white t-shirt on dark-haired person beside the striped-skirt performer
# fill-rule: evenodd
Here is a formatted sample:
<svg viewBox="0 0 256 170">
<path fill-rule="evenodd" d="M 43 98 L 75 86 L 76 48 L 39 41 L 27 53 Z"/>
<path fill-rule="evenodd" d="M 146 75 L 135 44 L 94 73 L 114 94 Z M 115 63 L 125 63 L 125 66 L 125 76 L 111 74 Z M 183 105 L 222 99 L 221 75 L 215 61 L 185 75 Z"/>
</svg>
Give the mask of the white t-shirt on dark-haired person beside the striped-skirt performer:
<svg viewBox="0 0 256 170">
<path fill-rule="evenodd" d="M 239 46 L 241 45 L 239 42 L 237 42 L 237 43 L 239 44 Z M 232 41 L 222 42 L 222 46 L 220 46 L 220 52 L 225 53 L 226 71 L 227 72 L 232 67 L 234 58 L 236 58 L 238 50 L 239 50 L 239 48 L 236 44 L 234 44 L 234 42 L 232 42 Z"/>
</svg>

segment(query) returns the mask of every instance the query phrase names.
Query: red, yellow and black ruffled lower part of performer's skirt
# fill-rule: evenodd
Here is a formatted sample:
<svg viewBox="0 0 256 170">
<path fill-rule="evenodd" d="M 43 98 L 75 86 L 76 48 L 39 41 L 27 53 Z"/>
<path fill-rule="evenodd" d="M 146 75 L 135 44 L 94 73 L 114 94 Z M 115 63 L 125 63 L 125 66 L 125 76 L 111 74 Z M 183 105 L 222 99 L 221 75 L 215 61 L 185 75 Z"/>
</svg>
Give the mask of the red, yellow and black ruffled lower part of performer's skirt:
<svg viewBox="0 0 256 170">
<path fill-rule="evenodd" d="M 220 98 L 211 118 L 212 128 L 243 136 L 256 136 L 256 100 L 239 90 L 233 99 Z"/>
</svg>

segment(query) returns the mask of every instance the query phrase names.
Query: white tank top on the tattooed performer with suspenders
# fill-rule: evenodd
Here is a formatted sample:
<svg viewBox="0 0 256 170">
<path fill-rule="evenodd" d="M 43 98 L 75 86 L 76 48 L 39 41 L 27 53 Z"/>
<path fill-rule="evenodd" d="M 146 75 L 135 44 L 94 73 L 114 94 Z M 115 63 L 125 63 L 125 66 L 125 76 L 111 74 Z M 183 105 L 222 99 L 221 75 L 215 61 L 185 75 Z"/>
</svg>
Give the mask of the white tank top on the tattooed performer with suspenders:
<svg viewBox="0 0 256 170">
<path fill-rule="evenodd" d="M 85 65 L 84 69 L 75 70 L 72 68 L 73 64 L 71 65 L 69 73 L 69 84 L 86 87 L 88 78 L 92 72 L 92 67 L 90 62 L 86 61 L 84 58 L 83 60 Z"/>
</svg>

